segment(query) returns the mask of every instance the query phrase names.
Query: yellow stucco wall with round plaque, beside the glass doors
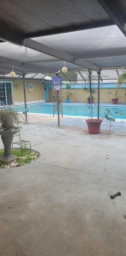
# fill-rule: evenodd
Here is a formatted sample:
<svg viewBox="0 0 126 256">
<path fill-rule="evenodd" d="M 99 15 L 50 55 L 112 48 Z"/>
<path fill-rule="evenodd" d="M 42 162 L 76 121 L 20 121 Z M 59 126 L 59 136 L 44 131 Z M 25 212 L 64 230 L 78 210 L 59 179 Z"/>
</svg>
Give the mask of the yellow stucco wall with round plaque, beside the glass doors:
<svg viewBox="0 0 126 256">
<path fill-rule="evenodd" d="M 32 82 L 34 85 L 34 90 L 32 92 L 28 91 L 28 83 Z M 41 81 L 25 81 L 25 89 L 26 89 L 26 99 L 27 101 L 35 101 L 35 100 L 44 100 L 44 84 Z M 15 80 L 13 81 L 13 101 L 22 102 L 24 101 L 24 91 L 23 91 L 23 80 Z"/>
</svg>

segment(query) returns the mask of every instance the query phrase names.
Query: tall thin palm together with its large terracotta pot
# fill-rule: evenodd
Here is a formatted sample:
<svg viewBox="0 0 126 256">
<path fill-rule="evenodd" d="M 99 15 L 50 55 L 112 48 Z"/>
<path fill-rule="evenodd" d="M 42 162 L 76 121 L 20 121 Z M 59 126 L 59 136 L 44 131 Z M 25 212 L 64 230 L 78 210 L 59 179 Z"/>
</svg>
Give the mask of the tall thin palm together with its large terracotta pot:
<svg viewBox="0 0 126 256">
<path fill-rule="evenodd" d="M 90 99 L 90 105 L 91 105 L 91 118 L 88 118 L 86 120 L 86 123 L 88 126 L 89 133 L 97 134 L 97 133 L 99 133 L 100 126 L 101 126 L 101 123 L 103 120 L 98 119 L 98 118 L 93 118 L 93 103 L 94 103 L 94 94 L 96 93 L 96 91 L 92 87 L 92 82 L 94 80 L 94 75 L 92 74 L 92 72 L 93 72 L 93 70 L 91 70 L 91 69 L 86 69 L 86 71 L 85 71 L 85 73 L 88 77 L 88 79 L 86 79 L 86 81 L 88 83 L 87 91 L 89 92 L 88 99 Z"/>
</svg>

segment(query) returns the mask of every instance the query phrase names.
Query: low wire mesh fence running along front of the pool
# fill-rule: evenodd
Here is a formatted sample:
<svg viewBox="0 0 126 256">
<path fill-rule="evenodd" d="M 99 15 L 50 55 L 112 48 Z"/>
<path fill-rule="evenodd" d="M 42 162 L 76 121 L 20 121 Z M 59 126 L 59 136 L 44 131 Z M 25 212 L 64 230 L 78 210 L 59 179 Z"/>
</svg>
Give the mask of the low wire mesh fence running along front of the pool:
<svg viewBox="0 0 126 256">
<path fill-rule="evenodd" d="M 32 113 L 32 110 L 27 113 L 28 123 L 41 124 L 45 126 L 58 126 L 58 116 L 57 116 L 57 104 L 50 108 L 44 106 L 44 113 L 34 106 L 34 112 L 40 111 L 40 113 Z M 37 109 L 35 109 L 37 108 Z M 54 110 L 54 116 L 53 116 Z M 61 116 L 61 105 L 59 107 L 60 114 L 60 126 L 77 128 L 77 129 L 87 129 L 86 119 L 91 118 L 91 108 L 84 107 L 76 108 L 76 106 L 63 106 L 63 117 Z M 110 108 L 109 116 L 115 118 L 115 122 L 111 121 L 111 132 L 113 133 L 124 133 L 126 134 L 126 109 L 122 111 L 121 108 Z M 97 108 L 93 108 L 93 117 L 97 118 Z M 101 123 L 101 131 L 108 132 L 110 127 L 110 121 L 105 119 L 105 111 L 103 108 L 100 109 L 100 118 L 103 118 Z M 22 114 L 20 117 L 21 122 L 25 122 L 25 115 Z"/>
</svg>

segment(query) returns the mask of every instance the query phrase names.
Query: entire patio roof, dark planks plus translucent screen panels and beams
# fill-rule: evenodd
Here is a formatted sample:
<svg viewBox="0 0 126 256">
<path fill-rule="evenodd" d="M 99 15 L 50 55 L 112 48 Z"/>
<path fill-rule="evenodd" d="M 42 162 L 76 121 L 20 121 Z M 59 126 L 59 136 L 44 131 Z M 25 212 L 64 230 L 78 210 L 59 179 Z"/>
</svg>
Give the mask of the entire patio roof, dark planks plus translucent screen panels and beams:
<svg viewBox="0 0 126 256">
<path fill-rule="evenodd" d="M 17 75 L 56 73 L 64 61 L 80 71 L 126 65 L 125 0 L 2 0 L 1 10 L 3 75 L 12 65 Z"/>
</svg>

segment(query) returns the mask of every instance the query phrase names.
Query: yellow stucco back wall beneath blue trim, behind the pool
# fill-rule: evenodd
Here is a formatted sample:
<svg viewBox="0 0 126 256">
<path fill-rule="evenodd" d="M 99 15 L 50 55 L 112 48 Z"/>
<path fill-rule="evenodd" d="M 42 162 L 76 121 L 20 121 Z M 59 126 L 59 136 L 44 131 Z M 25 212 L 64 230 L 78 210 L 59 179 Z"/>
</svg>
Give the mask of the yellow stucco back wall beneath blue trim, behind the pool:
<svg viewBox="0 0 126 256">
<path fill-rule="evenodd" d="M 86 98 L 89 96 L 89 93 L 87 93 L 83 89 L 70 89 L 71 91 L 74 91 L 74 94 L 70 98 L 71 102 L 85 102 Z M 94 95 L 95 102 L 97 102 L 97 89 L 96 94 Z M 116 88 L 101 88 L 100 89 L 100 102 L 112 102 L 111 99 L 115 98 Z M 66 89 L 63 89 L 63 101 L 65 101 L 66 98 Z M 111 94 L 109 92 L 111 91 Z M 125 88 L 119 88 L 119 101 L 120 103 L 126 102 L 126 96 L 125 96 Z M 49 89 L 49 100 L 52 101 L 52 89 Z"/>
</svg>

